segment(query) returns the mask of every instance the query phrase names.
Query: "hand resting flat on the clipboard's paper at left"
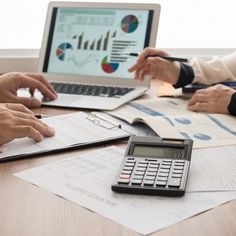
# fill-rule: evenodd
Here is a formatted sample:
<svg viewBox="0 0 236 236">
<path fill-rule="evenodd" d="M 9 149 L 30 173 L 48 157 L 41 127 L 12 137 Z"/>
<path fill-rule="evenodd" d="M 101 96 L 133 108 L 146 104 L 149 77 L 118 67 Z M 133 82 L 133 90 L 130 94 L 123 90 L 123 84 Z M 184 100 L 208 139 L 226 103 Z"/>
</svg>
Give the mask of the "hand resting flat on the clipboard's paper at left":
<svg viewBox="0 0 236 236">
<path fill-rule="evenodd" d="M 39 142 L 51 137 L 54 130 L 34 117 L 33 112 L 21 104 L 0 104 L 0 146 L 15 138 L 29 137 Z"/>
</svg>

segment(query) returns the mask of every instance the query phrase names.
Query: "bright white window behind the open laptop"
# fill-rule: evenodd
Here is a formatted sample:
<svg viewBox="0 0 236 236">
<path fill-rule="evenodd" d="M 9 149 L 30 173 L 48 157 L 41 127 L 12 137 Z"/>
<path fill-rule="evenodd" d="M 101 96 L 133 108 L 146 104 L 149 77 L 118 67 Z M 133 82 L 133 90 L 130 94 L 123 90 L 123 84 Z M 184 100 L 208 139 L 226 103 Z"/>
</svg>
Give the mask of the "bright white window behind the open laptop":
<svg viewBox="0 0 236 236">
<path fill-rule="evenodd" d="M 49 0 L 2 1 L 0 48 L 39 49 L 48 2 Z M 157 47 L 236 48 L 235 0 L 155 2 L 162 7 Z"/>
</svg>

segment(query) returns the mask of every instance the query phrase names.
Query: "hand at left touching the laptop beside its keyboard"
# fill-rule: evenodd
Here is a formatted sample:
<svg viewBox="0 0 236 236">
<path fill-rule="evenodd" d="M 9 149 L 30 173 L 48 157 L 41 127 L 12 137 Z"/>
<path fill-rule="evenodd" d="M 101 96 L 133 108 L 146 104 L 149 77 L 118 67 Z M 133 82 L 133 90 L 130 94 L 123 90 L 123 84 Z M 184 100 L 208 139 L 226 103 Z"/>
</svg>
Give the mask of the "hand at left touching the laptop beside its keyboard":
<svg viewBox="0 0 236 236">
<path fill-rule="evenodd" d="M 29 88 L 31 97 L 18 97 L 19 88 Z M 50 83 L 39 74 L 14 72 L 0 76 L 0 102 L 2 103 L 22 103 L 27 107 L 40 107 L 41 102 L 33 97 L 35 89 L 49 100 L 57 97 Z"/>
</svg>

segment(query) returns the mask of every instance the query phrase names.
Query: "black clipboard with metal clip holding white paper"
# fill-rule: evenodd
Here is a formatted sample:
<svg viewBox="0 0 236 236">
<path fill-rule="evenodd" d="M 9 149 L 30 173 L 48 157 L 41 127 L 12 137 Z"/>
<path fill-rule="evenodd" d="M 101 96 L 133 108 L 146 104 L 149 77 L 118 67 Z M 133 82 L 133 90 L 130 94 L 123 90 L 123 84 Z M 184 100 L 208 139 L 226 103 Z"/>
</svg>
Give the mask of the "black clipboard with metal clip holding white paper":
<svg viewBox="0 0 236 236">
<path fill-rule="evenodd" d="M 43 121 L 55 129 L 54 137 L 39 143 L 29 138 L 15 139 L 2 146 L 0 163 L 127 140 L 132 135 L 122 130 L 120 124 L 95 113 L 75 112 Z"/>
</svg>

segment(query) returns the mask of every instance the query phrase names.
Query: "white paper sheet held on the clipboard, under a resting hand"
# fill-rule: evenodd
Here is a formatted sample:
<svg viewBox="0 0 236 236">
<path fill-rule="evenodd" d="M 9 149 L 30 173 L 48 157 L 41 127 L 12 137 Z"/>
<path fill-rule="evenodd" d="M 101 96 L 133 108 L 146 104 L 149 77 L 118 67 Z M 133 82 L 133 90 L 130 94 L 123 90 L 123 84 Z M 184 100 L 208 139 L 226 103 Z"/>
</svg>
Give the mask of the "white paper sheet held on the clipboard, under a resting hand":
<svg viewBox="0 0 236 236">
<path fill-rule="evenodd" d="M 104 128 L 87 119 L 87 117 L 88 114 L 84 112 L 75 112 L 45 118 L 43 122 L 55 129 L 55 136 L 45 138 L 39 143 L 29 138 L 15 139 L 2 147 L 0 159 L 129 136 L 122 129 Z"/>
</svg>

